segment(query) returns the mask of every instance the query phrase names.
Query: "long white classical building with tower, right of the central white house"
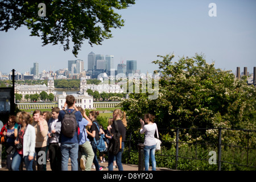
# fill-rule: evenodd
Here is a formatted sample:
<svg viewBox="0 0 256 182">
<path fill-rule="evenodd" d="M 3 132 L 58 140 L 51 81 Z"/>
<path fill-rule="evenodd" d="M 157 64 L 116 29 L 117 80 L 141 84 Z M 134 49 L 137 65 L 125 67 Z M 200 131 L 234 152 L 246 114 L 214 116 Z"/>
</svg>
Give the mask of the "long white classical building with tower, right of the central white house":
<svg viewBox="0 0 256 182">
<path fill-rule="evenodd" d="M 98 91 L 98 93 L 123 93 L 123 88 L 115 84 L 86 84 L 86 79 L 84 77 L 80 80 L 80 92 L 85 93 L 87 89 L 91 89 L 93 92 Z"/>
</svg>

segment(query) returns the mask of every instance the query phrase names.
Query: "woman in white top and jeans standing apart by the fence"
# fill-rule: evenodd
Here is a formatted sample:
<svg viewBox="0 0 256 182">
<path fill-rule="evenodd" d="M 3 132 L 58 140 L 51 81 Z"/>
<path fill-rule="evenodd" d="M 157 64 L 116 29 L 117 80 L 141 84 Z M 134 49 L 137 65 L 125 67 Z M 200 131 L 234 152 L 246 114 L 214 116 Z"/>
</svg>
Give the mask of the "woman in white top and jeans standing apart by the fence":
<svg viewBox="0 0 256 182">
<path fill-rule="evenodd" d="M 156 123 L 154 123 L 154 115 L 145 114 L 144 121 L 141 119 L 141 134 L 145 133 L 144 137 L 144 156 L 145 156 L 145 171 L 148 171 L 149 167 L 149 158 L 151 158 L 152 162 L 152 171 L 156 170 L 156 161 L 155 161 L 155 131 L 156 131 Z M 144 125 L 144 122 L 147 125 Z"/>
</svg>

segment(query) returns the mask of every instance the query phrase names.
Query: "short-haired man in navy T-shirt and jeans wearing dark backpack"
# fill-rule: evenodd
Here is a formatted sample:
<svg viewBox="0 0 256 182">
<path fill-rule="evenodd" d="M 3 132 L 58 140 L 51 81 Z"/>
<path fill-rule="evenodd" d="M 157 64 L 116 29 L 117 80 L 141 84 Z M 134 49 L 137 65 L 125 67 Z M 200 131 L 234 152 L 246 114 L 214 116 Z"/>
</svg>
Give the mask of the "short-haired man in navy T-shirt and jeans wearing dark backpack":
<svg viewBox="0 0 256 182">
<path fill-rule="evenodd" d="M 72 171 L 78 170 L 78 150 L 79 150 L 79 130 L 78 122 L 82 120 L 80 111 L 76 111 L 75 97 L 69 95 L 66 97 L 67 110 L 63 107 L 63 110 L 59 113 L 59 121 L 61 121 L 60 132 L 60 150 L 61 150 L 61 170 L 68 171 L 68 159 L 71 158 Z M 66 105 L 65 104 L 65 105 Z"/>
</svg>

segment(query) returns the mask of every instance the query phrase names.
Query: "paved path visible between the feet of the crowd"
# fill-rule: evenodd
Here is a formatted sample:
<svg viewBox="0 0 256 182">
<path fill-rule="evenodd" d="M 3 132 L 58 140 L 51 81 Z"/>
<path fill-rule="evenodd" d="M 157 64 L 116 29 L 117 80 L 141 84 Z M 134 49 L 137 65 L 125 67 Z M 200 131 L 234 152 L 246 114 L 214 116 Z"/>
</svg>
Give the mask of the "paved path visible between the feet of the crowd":
<svg viewBox="0 0 256 182">
<path fill-rule="evenodd" d="M 108 162 L 104 162 L 104 163 L 100 163 L 100 166 L 103 167 L 103 171 L 108 171 Z M 49 165 L 49 163 L 46 164 L 46 168 L 47 168 L 47 171 L 51 171 L 51 167 Z M 25 171 L 26 168 L 23 168 L 23 170 Z M 68 163 L 68 170 L 71 171 L 71 162 L 69 160 L 69 163 Z M 150 167 L 150 170 L 151 170 L 151 167 Z M 9 171 L 7 168 L 6 168 L 6 161 L 5 160 L 2 160 L 2 168 L 0 168 L 0 171 Z M 93 169 L 92 168 L 92 171 L 96 171 L 96 169 Z M 114 171 L 118 171 L 117 168 L 114 169 Z M 123 171 L 138 171 L 138 165 L 133 165 L 133 164 L 123 164 Z M 169 169 L 169 168 L 156 168 L 156 171 L 172 171 L 172 169 Z"/>
</svg>

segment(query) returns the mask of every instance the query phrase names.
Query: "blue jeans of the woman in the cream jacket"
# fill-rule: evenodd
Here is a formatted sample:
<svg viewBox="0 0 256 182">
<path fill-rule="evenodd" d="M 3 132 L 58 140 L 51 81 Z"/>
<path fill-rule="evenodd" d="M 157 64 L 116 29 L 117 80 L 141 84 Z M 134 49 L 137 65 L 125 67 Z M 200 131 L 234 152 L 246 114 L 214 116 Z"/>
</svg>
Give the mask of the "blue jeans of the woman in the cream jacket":
<svg viewBox="0 0 256 182">
<path fill-rule="evenodd" d="M 13 163 L 11 163 L 11 169 L 13 169 L 13 171 L 19 171 L 19 166 L 20 166 L 20 163 L 22 162 L 22 158 L 23 158 L 23 155 L 20 155 L 18 154 L 18 152 L 15 152 L 13 156 Z M 28 160 L 28 155 L 24 156 L 24 163 L 27 171 L 33 171 L 32 169 L 33 160 L 34 159 Z"/>
</svg>

